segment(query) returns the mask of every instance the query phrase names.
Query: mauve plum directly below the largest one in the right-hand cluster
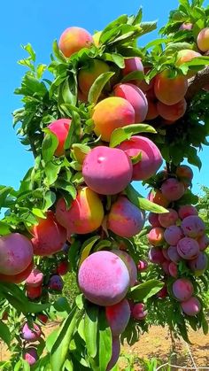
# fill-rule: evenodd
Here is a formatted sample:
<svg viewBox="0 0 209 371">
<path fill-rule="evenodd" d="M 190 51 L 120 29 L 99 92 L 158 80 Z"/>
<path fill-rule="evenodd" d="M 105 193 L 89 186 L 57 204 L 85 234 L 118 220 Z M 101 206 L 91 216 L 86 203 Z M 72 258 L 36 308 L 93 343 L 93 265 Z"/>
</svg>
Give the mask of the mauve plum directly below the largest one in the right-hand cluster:
<svg viewBox="0 0 209 371">
<path fill-rule="evenodd" d="M 183 237 L 177 244 L 177 251 L 183 259 L 195 259 L 199 253 L 199 245 L 193 238 Z"/>
</svg>

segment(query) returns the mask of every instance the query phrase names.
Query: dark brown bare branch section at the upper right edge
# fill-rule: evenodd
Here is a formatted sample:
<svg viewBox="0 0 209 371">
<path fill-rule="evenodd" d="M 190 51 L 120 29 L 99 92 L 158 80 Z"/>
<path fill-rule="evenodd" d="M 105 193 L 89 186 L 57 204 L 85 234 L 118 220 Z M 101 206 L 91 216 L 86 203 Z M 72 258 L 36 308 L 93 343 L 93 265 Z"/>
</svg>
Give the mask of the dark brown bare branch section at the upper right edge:
<svg viewBox="0 0 209 371">
<path fill-rule="evenodd" d="M 197 92 L 204 88 L 205 85 L 209 84 L 209 66 L 205 66 L 202 71 L 199 71 L 194 77 L 189 81 L 189 88 L 186 94 L 186 100 L 190 100 L 197 94 Z"/>
</svg>

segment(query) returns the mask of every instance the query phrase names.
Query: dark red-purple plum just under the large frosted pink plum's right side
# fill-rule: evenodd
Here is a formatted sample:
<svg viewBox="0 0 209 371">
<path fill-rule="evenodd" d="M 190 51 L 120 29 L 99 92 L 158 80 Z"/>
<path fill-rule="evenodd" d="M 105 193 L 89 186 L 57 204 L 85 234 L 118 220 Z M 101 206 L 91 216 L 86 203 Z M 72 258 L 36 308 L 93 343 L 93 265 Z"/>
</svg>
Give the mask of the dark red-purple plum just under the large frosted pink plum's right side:
<svg viewBox="0 0 209 371">
<path fill-rule="evenodd" d="M 128 325 L 130 306 L 127 299 L 120 303 L 105 307 L 106 319 L 112 331 L 112 336 L 120 336 Z"/>
</svg>

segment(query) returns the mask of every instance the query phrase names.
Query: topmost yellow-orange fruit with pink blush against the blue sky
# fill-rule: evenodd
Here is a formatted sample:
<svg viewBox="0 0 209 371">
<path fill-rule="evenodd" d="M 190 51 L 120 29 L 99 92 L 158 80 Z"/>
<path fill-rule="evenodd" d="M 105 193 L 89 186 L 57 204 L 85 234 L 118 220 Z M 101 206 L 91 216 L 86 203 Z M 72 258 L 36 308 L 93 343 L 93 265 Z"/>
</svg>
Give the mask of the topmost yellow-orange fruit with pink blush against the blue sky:
<svg viewBox="0 0 209 371">
<path fill-rule="evenodd" d="M 60 36 L 58 46 L 64 56 L 69 58 L 82 48 L 89 48 L 92 43 L 93 38 L 86 29 L 69 27 Z"/>
</svg>

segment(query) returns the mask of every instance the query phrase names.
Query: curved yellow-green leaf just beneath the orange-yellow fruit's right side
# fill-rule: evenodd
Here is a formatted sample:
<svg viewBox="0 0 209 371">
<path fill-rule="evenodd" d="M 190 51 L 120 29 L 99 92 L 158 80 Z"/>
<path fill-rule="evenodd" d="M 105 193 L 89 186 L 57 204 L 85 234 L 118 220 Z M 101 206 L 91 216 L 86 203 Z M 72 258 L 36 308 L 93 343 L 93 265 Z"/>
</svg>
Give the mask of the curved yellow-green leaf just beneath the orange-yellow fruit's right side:
<svg viewBox="0 0 209 371">
<path fill-rule="evenodd" d="M 132 124 L 123 128 L 113 130 L 110 140 L 110 147 L 116 147 L 121 142 L 130 139 L 131 135 L 138 133 L 156 133 L 156 130 L 148 124 Z"/>
</svg>

